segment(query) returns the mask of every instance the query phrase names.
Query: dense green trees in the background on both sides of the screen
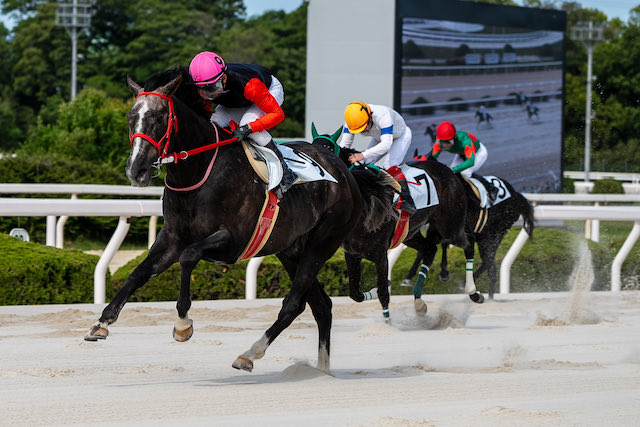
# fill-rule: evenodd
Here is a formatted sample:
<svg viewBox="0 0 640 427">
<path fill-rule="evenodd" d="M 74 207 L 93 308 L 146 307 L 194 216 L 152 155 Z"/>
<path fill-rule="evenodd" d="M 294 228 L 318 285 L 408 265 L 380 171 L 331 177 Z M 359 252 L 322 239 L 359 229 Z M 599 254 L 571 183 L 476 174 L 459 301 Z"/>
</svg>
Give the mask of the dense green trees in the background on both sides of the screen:
<svg viewBox="0 0 640 427">
<path fill-rule="evenodd" d="M 252 18 L 246 17 L 242 0 L 96 2 L 91 26 L 78 38 L 76 106 L 68 103 L 71 43 L 54 24 L 57 2 L 0 4 L 3 13 L 17 20 L 11 31 L 0 24 L 0 151 L 55 152 L 119 167 L 127 143 L 122 112 L 131 97 L 126 75 L 142 82 L 188 64 L 202 50 L 217 51 L 230 62 L 269 67 L 285 88 L 287 118 L 274 135 L 304 133 L 306 2 L 291 13 L 269 11 Z M 607 24 L 593 58 L 592 163 L 594 169 L 640 171 L 640 75 L 635 65 L 640 59 L 640 6 L 622 22 L 577 1 L 522 4 L 566 11 L 568 29 L 585 21 Z M 570 37 L 566 48 L 564 168 L 581 169 L 587 55 L 581 42 Z"/>
</svg>

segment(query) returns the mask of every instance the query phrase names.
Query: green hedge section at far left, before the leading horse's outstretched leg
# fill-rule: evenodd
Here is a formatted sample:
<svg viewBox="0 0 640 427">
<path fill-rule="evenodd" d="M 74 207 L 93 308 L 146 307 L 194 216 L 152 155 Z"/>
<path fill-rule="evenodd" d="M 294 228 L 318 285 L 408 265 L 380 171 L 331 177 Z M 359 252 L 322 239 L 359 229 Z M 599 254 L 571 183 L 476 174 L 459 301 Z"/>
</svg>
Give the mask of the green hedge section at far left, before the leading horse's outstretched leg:
<svg viewBox="0 0 640 427">
<path fill-rule="evenodd" d="M 99 257 L 0 234 L 0 305 L 93 302 Z M 107 274 L 107 299 L 113 297 Z"/>
</svg>

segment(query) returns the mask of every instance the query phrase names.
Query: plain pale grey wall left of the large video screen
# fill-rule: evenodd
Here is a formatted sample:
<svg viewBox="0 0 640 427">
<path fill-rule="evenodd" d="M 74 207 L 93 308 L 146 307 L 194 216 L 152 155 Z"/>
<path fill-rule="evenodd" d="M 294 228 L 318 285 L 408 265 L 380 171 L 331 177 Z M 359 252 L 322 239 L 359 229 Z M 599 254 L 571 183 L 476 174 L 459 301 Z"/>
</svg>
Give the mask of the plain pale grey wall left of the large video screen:
<svg viewBox="0 0 640 427">
<path fill-rule="evenodd" d="M 393 106 L 395 0 L 310 0 L 305 135 L 333 133 L 352 101 Z"/>
</svg>

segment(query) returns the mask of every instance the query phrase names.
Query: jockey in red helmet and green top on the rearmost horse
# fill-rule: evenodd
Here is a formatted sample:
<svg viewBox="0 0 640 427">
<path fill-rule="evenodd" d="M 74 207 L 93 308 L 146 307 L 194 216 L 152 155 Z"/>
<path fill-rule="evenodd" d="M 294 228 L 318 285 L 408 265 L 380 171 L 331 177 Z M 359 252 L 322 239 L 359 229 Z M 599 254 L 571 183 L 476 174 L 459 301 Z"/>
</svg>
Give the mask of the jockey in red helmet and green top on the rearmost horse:
<svg viewBox="0 0 640 427">
<path fill-rule="evenodd" d="M 443 150 L 457 154 L 451 162 L 451 170 L 480 181 L 487 189 L 489 199 L 493 203 L 498 195 L 498 189 L 483 176 L 475 173 L 487 160 L 488 153 L 484 144 L 481 144 L 472 133 L 456 130 L 453 123 L 444 121 L 438 125 L 436 143 L 431 152 L 432 157 L 437 159 Z"/>
</svg>

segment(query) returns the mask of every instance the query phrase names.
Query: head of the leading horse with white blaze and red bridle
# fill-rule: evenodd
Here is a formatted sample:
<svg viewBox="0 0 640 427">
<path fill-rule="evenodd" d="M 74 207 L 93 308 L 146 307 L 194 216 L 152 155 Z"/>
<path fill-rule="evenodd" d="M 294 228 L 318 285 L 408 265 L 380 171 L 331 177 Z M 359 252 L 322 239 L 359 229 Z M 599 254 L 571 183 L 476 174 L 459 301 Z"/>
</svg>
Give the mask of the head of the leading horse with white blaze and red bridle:
<svg viewBox="0 0 640 427">
<path fill-rule="evenodd" d="M 127 114 L 131 153 L 127 159 L 126 174 L 131 185 L 146 187 L 158 159 L 167 153 L 177 119 L 171 95 L 178 89 L 182 75 L 168 83 L 145 91 L 127 76 L 127 86 L 136 101 Z"/>
</svg>

